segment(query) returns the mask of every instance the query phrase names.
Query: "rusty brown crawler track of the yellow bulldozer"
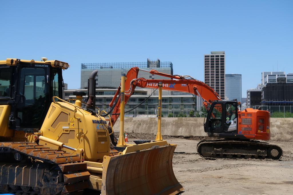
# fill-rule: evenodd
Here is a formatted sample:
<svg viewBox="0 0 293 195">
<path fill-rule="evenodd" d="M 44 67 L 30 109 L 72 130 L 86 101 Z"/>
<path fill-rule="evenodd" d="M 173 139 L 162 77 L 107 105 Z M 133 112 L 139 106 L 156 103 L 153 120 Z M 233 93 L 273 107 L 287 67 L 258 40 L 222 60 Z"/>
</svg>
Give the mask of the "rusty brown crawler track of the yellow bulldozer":
<svg viewBox="0 0 293 195">
<path fill-rule="evenodd" d="M 90 173 L 78 155 L 33 142 L 0 142 L 0 193 L 78 194 Z"/>
</svg>

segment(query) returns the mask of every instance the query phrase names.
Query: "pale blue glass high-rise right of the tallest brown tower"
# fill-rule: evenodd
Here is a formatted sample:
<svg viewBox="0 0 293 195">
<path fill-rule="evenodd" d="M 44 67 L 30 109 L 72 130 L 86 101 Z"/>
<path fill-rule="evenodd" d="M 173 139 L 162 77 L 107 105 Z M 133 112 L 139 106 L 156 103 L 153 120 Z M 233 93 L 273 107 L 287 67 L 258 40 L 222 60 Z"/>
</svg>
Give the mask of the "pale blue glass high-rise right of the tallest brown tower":
<svg viewBox="0 0 293 195">
<path fill-rule="evenodd" d="M 241 75 L 226 74 L 225 75 L 225 99 L 237 99 L 242 103 L 242 83 Z"/>
</svg>

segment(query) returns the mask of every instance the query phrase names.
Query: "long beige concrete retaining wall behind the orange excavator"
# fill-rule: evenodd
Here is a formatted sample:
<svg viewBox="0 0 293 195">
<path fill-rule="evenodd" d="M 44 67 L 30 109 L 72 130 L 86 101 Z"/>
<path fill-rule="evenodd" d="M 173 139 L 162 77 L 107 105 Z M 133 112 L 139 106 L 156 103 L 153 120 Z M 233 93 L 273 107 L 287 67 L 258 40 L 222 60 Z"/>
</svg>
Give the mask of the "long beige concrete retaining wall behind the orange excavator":
<svg viewBox="0 0 293 195">
<path fill-rule="evenodd" d="M 119 118 L 120 119 L 120 118 Z M 114 130 L 119 131 L 120 120 L 117 120 Z M 156 133 L 157 118 L 124 119 L 125 132 Z M 271 118 L 271 139 L 275 141 L 293 140 L 293 118 Z M 203 129 L 204 118 L 162 118 L 162 135 L 193 135 L 206 136 Z"/>
</svg>

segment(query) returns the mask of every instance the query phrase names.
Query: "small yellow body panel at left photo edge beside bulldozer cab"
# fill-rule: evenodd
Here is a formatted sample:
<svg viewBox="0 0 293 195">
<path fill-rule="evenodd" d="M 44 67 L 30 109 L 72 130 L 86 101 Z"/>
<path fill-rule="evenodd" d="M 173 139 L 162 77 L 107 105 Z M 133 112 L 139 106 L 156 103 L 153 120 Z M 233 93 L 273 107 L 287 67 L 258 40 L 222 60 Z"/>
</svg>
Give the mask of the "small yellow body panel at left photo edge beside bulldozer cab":
<svg viewBox="0 0 293 195">
<path fill-rule="evenodd" d="M 8 127 L 9 115 L 10 115 L 10 106 L 1 105 L 0 106 L 0 137 L 12 137 L 14 135 L 14 131 L 10 130 Z"/>
</svg>

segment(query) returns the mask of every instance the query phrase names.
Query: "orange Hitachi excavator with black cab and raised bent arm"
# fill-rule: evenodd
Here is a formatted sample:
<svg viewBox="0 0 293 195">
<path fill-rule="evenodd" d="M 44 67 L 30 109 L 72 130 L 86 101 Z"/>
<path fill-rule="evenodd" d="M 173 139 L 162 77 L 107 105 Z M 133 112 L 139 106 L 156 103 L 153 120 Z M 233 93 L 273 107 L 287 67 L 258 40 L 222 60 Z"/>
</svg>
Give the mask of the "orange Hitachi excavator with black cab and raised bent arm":
<svg viewBox="0 0 293 195">
<path fill-rule="evenodd" d="M 168 77 L 168 80 L 149 80 L 137 78 L 138 72 L 146 71 L 150 74 Z M 204 158 L 271 158 L 280 159 L 282 149 L 277 145 L 257 140 L 270 139 L 270 113 L 252 108 L 238 109 L 237 100 L 226 101 L 207 84 L 188 75 L 169 75 L 156 70 L 131 68 L 125 81 L 125 104 L 134 93 L 136 87 L 188 92 L 202 99 L 206 108 L 204 130 L 209 137 L 223 138 L 202 140 L 197 144 L 197 152 Z M 111 115 L 112 126 L 120 113 L 120 87 L 109 104 L 108 114 Z M 118 98 L 117 98 L 118 97 Z M 107 115 L 108 115 L 107 114 Z M 110 122 L 108 130 L 111 133 Z M 117 144 L 111 134 L 112 143 Z"/>
</svg>

